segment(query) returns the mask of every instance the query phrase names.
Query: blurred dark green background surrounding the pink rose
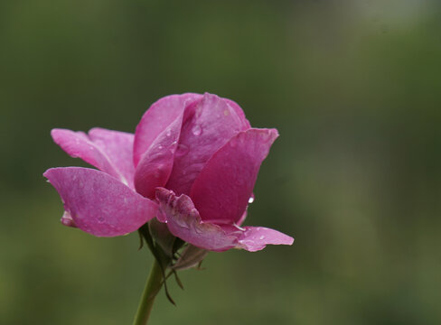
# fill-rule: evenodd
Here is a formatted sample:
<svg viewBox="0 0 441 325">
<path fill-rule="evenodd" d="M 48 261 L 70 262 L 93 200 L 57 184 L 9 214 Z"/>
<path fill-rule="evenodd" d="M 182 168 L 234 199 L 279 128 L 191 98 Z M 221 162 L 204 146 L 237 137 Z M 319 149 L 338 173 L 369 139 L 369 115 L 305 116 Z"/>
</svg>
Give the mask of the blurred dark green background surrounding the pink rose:
<svg viewBox="0 0 441 325">
<path fill-rule="evenodd" d="M 441 323 L 441 5 L 424 0 L 0 2 L 1 324 L 129 324 L 138 237 L 61 226 L 50 130 L 133 132 L 168 94 L 232 98 L 280 138 L 248 225 L 152 324 Z"/>
</svg>

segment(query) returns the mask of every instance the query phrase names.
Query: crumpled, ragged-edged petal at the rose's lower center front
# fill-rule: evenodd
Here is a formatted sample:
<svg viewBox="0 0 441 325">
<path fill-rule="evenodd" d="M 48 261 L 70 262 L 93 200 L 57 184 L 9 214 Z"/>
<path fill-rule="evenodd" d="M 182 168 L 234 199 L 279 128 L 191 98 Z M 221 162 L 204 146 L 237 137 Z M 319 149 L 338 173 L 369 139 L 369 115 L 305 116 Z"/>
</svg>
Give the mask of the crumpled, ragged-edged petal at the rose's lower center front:
<svg viewBox="0 0 441 325">
<path fill-rule="evenodd" d="M 159 219 L 167 223 L 174 236 L 193 246 L 217 252 L 239 245 L 236 236 L 228 236 L 219 226 L 202 222 L 188 196 L 177 197 L 172 190 L 160 188 L 156 191 L 156 199 L 163 213 Z"/>
</svg>

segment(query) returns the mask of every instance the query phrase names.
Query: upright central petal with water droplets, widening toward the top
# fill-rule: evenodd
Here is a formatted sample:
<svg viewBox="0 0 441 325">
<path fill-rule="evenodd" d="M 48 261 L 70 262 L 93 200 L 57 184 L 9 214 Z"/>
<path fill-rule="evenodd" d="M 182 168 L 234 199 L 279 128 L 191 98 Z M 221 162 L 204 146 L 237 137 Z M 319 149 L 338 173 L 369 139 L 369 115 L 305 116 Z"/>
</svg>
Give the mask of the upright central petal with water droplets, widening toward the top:
<svg viewBox="0 0 441 325">
<path fill-rule="evenodd" d="M 175 155 L 167 189 L 190 194 L 193 181 L 211 155 L 231 136 L 249 128 L 243 112 L 229 103 L 232 102 L 206 93 L 189 109 L 179 140 L 181 150 Z"/>
</svg>

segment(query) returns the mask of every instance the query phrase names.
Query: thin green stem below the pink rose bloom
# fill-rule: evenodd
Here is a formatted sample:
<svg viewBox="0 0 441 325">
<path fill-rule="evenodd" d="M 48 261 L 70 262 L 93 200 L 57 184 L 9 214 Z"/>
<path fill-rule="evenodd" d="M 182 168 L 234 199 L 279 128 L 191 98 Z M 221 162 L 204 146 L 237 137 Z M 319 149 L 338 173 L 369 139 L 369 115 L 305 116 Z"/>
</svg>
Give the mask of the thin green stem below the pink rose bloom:
<svg viewBox="0 0 441 325">
<path fill-rule="evenodd" d="M 153 303 L 155 302 L 156 294 L 163 286 L 163 271 L 161 265 L 156 261 L 153 264 L 152 270 L 148 275 L 147 282 L 141 301 L 139 302 L 138 310 L 136 311 L 133 325 L 145 325 L 152 311 Z"/>
</svg>

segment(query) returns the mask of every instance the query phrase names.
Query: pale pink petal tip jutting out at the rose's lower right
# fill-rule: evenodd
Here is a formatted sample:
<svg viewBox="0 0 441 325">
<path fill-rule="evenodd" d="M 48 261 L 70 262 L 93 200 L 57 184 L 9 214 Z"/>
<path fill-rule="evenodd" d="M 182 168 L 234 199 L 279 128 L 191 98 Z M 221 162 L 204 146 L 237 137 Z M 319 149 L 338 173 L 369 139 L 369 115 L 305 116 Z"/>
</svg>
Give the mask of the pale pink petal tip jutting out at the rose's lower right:
<svg viewBox="0 0 441 325">
<path fill-rule="evenodd" d="M 267 245 L 293 245 L 294 238 L 277 230 L 264 227 L 245 227 L 239 236 L 238 247 L 256 252 Z"/>
</svg>

